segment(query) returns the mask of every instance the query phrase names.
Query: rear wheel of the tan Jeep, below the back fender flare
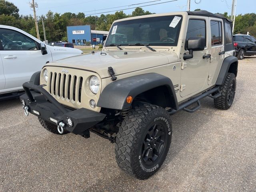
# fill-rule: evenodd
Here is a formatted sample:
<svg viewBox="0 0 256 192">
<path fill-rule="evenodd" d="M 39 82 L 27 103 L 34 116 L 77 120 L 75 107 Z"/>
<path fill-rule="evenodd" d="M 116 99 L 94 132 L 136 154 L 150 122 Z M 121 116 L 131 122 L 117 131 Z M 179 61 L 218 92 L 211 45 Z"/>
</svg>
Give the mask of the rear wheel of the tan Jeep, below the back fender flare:
<svg viewBox="0 0 256 192">
<path fill-rule="evenodd" d="M 214 106 L 218 109 L 227 110 L 233 103 L 236 93 L 236 76 L 234 73 L 226 75 L 224 84 L 220 87 L 221 96 L 214 99 Z"/>
</svg>

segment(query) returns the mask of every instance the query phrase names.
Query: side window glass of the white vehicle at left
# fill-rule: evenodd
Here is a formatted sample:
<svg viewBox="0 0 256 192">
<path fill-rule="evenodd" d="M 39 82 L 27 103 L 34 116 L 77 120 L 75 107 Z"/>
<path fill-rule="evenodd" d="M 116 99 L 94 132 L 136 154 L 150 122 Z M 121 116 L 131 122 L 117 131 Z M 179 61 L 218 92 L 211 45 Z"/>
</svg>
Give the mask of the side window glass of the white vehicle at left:
<svg viewBox="0 0 256 192">
<path fill-rule="evenodd" d="M 9 29 L 0 29 L 3 50 L 37 50 L 36 42 L 31 38 Z"/>
</svg>

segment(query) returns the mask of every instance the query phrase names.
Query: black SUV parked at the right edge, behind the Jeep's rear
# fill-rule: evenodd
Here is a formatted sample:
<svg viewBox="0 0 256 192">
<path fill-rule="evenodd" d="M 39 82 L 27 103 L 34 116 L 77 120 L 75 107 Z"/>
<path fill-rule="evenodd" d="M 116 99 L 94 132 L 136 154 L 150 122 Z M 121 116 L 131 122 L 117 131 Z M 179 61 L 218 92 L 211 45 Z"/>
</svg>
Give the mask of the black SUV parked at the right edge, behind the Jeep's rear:
<svg viewBox="0 0 256 192">
<path fill-rule="evenodd" d="M 245 55 L 256 55 L 256 38 L 250 35 L 234 35 L 236 57 L 243 59 Z"/>
</svg>

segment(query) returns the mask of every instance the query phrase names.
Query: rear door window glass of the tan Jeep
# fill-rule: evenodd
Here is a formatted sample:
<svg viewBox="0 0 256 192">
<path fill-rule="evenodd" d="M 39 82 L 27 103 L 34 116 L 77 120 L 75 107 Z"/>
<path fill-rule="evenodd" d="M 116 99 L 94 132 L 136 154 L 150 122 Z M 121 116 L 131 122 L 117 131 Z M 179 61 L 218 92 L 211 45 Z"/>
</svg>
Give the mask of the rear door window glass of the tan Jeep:
<svg viewBox="0 0 256 192">
<path fill-rule="evenodd" d="M 211 21 L 211 42 L 212 46 L 222 44 L 222 25 L 221 22 Z"/>
</svg>

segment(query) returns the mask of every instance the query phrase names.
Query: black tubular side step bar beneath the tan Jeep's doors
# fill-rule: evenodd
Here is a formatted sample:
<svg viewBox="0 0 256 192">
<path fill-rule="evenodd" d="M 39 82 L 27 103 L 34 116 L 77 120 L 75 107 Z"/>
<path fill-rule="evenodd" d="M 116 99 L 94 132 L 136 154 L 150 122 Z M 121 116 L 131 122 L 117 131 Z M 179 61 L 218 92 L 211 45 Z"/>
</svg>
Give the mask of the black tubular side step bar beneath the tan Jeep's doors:
<svg viewBox="0 0 256 192">
<path fill-rule="evenodd" d="M 212 96 L 211 94 L 213 94 L 214 92 L 218 92 L 218 93 L 215 94 L 214 96 Z M 180 110 L 184 110 L 184 111 L 190 112 L 190 113 L 195 112 L 196 110 L 198 110 L 201 107 L 201 104 L 200 104 L 200 101 L 199 101 L 200 99 L 205 98 L 207 96 L 210 96 L 211 98 L 218 98 L 220 95 L 221 95 L 220 94 L 220 88 L 219 87 L 214 87 L 214 88 L 196 96 L 195 98 L 192 98 L 192 99 L 188 100 L 187 102 L 181 104 L 177 110 L 174 110 L 174 109 L 169 110 L 168 113 L 170 115 L 173 115 L 174 113 L 176 113 Z M 197 103 L 198 106 L 196 106 L 192 109 L 186 108 L 186 107 L 188 107 L 188 106 L 190 106 L 194 103 Z"/>
</svg>

